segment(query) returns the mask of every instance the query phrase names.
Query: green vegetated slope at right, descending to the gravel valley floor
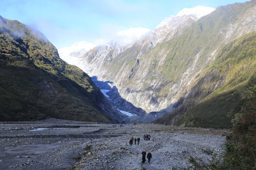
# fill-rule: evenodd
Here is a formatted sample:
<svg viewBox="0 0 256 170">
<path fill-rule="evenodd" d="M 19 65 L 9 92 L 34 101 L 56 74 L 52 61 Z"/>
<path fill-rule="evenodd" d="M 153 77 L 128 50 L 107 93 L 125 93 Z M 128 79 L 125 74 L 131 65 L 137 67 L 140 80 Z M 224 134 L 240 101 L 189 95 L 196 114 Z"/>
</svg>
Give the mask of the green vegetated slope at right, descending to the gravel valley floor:
<svg viewBox="0 0 256 170">
<path fill-rule="evenodd" d="M 156 122 L 230 127 L 246 98 L 244 92 L 255 84 L 255 68 L 256 32 L 252 32 L 222 47 L 214 62 L 198 75 L 200 80 L 188 96 L 180 98 L 182 104 Z"/>
</svg>

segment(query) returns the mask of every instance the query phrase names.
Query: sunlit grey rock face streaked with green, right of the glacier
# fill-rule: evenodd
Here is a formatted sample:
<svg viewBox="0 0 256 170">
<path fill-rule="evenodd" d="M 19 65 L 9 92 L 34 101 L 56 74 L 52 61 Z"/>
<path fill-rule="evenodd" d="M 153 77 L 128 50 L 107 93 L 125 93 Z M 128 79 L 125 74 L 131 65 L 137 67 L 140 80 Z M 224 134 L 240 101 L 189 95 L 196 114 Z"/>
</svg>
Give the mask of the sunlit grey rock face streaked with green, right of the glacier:
<svg viewBox="0 0 256 170">
<path fill-rule="evenodd" d="M 220 6 L 142 57 L 136 55 L 136 52 L 140 54 L 137 45 L 133 46 L 131 55 L 125 51 L 120 53 L 109 64 L 113 70 L 109 69 L 106 74 L 116 83 L 124 99 L 147 112 L 164 109 L 178 101 L 180 104 L 184 102 L 181 98 L 186 98 L 199 81 L 198 74 L 215 59 L 223 45 L 255 30 L 255 16 L 255 1 Z M 115 70 L 118 63 L 121 66 Z"/>
</svg>

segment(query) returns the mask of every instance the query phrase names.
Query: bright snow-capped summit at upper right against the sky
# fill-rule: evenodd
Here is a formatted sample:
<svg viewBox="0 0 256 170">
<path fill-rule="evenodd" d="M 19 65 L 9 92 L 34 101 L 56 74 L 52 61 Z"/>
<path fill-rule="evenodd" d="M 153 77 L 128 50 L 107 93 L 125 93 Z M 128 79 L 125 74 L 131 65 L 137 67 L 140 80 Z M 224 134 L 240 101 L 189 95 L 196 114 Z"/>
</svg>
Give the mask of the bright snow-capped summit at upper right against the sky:
<svg viewBox="0 0 256 170">
<path fill-rule="evenodd" d="M 215 8 L 197 5 L 194 8 L 184 8 L 184 9 L 182 9 L 176 16 L 195 15 L 197 18 L 201 18 L 204 15 L 207 15 L 207 14 L 211 13 L 214 10 L 215 10 Z"/>
</svg>

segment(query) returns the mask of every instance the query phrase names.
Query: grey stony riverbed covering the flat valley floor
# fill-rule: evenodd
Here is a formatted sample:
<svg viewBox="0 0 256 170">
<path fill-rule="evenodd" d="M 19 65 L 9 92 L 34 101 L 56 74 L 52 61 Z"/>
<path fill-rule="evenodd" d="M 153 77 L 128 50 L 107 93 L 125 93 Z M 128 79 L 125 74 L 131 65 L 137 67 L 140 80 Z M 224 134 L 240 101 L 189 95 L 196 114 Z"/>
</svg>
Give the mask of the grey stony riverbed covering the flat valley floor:
<svg viewBox="0 0 256 170">
<path fill-rule="evenodd" d="M 188 158 L 221 154 L 228 130 L 180 128 L 157 124 L 102 124 L 49 118 L 34 122 L 0 122 L 0 169 L 131 169 L 140 153 L 152 153 L 147 170 L 188 167 Z M 37 128 L 42 130 L 30 131 Z M 180 135 L 184 131 L 184 135 Z M 151 140 L 143 140 L 150 134 Z M 129 145 L 131 137 L 140 145 Z"/>
</svg>

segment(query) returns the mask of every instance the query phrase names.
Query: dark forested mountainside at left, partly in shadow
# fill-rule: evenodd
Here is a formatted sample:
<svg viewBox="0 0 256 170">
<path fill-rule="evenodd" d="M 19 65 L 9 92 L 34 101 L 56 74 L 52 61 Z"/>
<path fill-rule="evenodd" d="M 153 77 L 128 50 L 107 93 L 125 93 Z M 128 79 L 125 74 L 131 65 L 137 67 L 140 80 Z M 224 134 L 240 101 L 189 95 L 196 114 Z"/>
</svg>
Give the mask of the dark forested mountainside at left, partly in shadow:
<svg viewBox="0 0 256 170">
<path fill-rule="evenodd" d="M 0 17 L 1 120 L 36 120 L 51 116 L 110 122 L 124 116 L 91 78 L 60 59 L 38 31 Z"/>
</svg>

